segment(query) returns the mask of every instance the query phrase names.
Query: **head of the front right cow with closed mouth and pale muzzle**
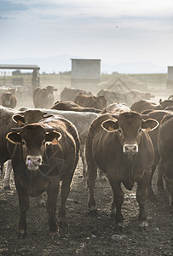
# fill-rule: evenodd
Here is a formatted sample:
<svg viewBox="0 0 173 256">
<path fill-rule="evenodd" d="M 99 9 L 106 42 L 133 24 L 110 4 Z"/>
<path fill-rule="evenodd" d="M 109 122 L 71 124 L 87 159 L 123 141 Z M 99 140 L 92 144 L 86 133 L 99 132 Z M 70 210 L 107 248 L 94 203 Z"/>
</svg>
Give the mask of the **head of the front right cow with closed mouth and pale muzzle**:
<svg viewBox="0 0 173 256">
<path fill-rule="evenodd" d="M 141 142 L 141 134 L 144 131 L 152 131 L 159 122 L 154 119 L 143 120 L 140 113 L 125 112 L 113 115 L 116 120 L 108 119 L 101 126 L 108 132 L 117 132 L 124 154 L 138 153 Z"/>
</svg>

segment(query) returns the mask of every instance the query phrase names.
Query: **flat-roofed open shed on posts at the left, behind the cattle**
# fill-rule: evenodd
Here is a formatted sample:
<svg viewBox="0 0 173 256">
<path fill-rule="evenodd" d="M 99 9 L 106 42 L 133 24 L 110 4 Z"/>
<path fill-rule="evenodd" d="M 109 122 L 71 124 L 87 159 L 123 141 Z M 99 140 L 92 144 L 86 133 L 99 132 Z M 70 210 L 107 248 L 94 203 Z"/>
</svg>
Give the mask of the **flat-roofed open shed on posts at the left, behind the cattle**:
<svg viewBox="0 0 173 256">
<path fill-rule="evenodd" d="M 32 91 L 39 86 L 39 70 L 37 65 L 0 65 L 0 88 L 16 88 L 18 97 L 27 99 Z M 7 72 L 11 70 L 11 72 Z M 26 70 L 21 73 L 20 70 Z M 32 70 L 32 73 L 31 73 Z"/>
</svg>

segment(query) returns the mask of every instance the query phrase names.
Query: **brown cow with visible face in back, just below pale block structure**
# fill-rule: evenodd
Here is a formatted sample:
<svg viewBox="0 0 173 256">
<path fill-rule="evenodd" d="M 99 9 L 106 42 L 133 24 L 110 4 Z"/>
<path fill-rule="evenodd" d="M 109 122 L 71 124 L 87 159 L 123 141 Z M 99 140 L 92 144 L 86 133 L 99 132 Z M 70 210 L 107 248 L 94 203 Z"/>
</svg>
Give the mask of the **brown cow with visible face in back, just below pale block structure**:
<svg viewBox="0 0 173 256">
<path fill-rule="evenodd" d="M 107 99 L 105 96 L 88 96 L 79 92 L 75 96 L 74 102 L 85 108 L 103 109 L 107 107 Z"/>
</svg>

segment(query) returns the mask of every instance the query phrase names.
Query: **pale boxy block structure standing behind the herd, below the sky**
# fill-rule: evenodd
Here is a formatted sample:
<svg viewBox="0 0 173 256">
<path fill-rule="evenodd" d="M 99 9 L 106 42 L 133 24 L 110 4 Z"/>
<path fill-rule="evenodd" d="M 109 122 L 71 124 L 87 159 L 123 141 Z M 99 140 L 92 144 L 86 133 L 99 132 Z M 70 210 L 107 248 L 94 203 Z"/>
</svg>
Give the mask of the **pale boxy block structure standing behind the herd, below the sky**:
<svg viewBox="0 0 173 256">
<path fill-rule="evenodd" d="M 99 59 L 71 59 L 72 60 L 72 88 L 97 91 L 101 82 L 101 60 Z"/>
</svg>

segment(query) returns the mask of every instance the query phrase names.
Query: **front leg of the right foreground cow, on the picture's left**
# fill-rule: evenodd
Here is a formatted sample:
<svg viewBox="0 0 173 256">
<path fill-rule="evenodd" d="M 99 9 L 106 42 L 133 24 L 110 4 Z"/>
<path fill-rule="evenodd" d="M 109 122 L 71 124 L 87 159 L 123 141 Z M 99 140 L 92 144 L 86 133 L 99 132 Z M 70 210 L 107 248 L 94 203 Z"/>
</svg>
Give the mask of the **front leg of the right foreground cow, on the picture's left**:
<svg viewBox="0 0 173 256">
<path fill-rule="evenodd" d="M 112 216 L 115 218 L 115 226 L 122 229 L 123 215 L 121 213 L 121 207 L 124 202 L 124 192 L 121 189 L 120 183 L 117 183 L 113 176 L 111 177 L 109 174 L 107 174 L 107 177 L 112 187 Z"/>
</svg>

